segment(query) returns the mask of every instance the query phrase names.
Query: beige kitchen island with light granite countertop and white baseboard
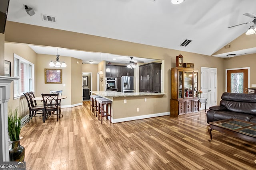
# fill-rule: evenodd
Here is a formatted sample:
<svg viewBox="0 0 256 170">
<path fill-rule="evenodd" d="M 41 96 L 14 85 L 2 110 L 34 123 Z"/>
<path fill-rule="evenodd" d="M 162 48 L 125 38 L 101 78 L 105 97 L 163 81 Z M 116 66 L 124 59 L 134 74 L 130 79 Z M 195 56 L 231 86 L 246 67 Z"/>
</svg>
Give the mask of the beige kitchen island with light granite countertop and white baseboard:
<svg viewBox="0 0 256 170">
<path fill-rule="evenodd" d="M 112 101 L 112 123 L 170 115 L 163 106 L 165 93 L 90 92 Z"/>
</svg>

